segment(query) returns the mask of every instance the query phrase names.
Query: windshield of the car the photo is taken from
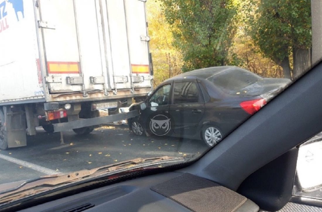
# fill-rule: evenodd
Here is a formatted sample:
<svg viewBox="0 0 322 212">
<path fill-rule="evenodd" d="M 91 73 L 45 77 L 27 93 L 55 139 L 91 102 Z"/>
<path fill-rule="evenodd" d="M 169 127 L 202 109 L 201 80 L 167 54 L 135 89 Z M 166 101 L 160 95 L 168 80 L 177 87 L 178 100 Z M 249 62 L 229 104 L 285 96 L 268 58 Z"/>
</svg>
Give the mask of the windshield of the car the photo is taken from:
<svg viewBox="0 0 322 212">
<path fill-rule="evenodd" d="M 311 17 L 310 0 L 0 0 L 0 199 L 197 160 L 322 57 Z"/>
</svg>

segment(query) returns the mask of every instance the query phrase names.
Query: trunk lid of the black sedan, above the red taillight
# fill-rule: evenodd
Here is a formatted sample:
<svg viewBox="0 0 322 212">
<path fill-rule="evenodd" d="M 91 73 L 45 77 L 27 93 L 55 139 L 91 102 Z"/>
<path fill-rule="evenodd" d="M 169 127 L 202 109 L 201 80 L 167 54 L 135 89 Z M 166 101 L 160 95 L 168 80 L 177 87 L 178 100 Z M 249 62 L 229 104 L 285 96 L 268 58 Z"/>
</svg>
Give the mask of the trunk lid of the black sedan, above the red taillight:
<svg viewBox="0 0 322 212">
<path fill-rule="evenodd" d="M 262 80 L 241 89 L 240 94 L 244 96 L 271 95 L 291 83 L 286 78 L 263 78 Z"/>
</svg>

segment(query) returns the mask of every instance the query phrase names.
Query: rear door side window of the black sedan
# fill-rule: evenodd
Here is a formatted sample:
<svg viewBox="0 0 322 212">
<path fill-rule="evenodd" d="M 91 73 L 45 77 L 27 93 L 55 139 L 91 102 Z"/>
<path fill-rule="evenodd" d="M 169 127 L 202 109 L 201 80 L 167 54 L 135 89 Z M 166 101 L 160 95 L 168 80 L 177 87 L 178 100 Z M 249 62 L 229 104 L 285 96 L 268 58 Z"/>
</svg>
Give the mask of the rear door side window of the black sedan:
<svg viewBox="0 0 322 212">
<path fill-rule="evenodd" d="M 196 82 L 175 83 L 173 93 L 174 104 L 197 103 L 202 101 L 203 98 Z"/>
</svg>

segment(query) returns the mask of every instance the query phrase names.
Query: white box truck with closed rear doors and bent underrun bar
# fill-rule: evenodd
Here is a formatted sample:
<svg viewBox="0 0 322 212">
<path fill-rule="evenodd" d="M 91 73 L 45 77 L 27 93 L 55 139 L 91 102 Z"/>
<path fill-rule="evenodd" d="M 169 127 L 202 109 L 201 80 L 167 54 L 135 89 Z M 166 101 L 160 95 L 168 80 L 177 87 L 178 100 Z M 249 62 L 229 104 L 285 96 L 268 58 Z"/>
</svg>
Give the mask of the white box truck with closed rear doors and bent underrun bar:
<svg viewBox="0 0 322 212">
<path fill-rule="evenodd" d="M 152 90 L 146 0 L 0 0 L 0 148 L 88 134 Z"/>
</svg>

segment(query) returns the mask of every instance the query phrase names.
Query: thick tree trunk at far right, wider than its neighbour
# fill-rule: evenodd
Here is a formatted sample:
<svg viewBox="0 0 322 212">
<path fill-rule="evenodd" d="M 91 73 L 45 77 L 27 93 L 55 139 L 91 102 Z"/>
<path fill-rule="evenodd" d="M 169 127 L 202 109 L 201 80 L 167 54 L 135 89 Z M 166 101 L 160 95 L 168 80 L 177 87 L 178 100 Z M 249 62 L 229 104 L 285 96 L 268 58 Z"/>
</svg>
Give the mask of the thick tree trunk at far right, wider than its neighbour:
<svg viewBox="0 0 322 212">
<path fill-rule="evenodd" d="M 293 79 L 311 66 L 310 49 L 293 48 Z"/>
</svg>

